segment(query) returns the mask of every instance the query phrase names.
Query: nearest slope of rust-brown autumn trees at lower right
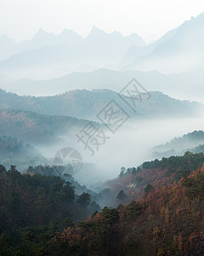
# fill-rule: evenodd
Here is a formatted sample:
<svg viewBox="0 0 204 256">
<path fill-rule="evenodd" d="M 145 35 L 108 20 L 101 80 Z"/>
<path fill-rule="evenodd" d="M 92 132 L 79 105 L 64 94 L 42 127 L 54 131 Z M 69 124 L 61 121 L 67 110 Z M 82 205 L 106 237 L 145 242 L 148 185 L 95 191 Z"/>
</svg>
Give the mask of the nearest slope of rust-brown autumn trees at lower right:
<svg viewBox="0 0 204 256">
<path fill-rule="evenodd" d="M 140 201 L 105 207 L 50 241 L 54 255 L 203 255 L 204 167 Z"/>
</svg>

